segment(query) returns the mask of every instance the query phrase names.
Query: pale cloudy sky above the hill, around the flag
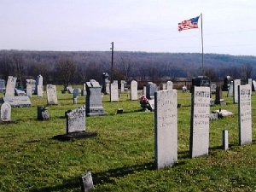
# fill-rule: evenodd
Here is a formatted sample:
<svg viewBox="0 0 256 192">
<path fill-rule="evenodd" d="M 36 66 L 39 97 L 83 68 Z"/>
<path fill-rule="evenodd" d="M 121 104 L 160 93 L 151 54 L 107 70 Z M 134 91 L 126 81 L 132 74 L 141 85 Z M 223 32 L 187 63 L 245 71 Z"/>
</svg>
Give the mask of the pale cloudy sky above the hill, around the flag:
<svg viewBox="0 0 256 192">
<path fill-rule="evenodd" d="M 0 49 L 201 52 L 256 55 L 255 0 L 1 0 Z M 201 21 L 200 21 L 201 22 Z M 201 25 L 201 23 L 199 23 Z"/>
</svg>

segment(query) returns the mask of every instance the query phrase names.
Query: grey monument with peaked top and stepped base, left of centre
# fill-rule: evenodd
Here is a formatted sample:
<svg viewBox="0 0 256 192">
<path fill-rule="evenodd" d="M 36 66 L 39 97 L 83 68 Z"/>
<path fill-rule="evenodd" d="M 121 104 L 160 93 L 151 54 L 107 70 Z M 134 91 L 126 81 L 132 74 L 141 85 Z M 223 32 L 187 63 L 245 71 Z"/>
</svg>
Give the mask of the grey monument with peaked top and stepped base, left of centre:
<svg viewBox="0 0 256 192">
<path fill-rule="evenodd" d="M 105 115 L 104 108 L 102 107 L 102 87 L 96 80 L 86 82 L 86 115 L 96 116 Z"/>
</svg>

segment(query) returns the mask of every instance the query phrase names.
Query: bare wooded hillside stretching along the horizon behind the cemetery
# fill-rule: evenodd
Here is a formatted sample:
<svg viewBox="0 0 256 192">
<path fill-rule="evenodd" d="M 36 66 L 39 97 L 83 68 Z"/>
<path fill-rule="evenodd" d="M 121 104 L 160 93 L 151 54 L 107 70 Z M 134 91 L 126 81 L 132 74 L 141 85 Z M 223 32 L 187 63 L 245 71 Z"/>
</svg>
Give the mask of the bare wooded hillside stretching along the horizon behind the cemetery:
<svg viewBox="0 0 256 192">
<path fill-rule="evenodd" d="M 204 55 L 204 75 L 212 81 L 255 79 L 256 57 Z M 161 81 L 191 79 L 201 75 L 201 54 L 146 53 L 116 51 L 113 54 L 113 79 Z M 111 75 L 110 51 L 0 51 L 0 78 L 16 76 L 20 84 L 43 75 L 44 84 L 81 84 L 89 79 L 102 82 L 102 73 Z"/>
</svg>

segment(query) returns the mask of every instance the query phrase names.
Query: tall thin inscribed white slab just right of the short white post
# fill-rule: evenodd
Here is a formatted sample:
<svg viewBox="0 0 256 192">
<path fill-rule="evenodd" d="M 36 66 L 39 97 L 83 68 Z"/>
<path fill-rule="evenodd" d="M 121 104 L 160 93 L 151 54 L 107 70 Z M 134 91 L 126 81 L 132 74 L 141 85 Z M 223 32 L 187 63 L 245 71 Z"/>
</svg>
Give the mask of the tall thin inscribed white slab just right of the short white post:
<svg viewBox="0 0 256 192">
<path fill-rule="evenodd" d="M 239 144 L 252 143 L 252 106 L 249 84 L 238 86 Z"/>
</svg>

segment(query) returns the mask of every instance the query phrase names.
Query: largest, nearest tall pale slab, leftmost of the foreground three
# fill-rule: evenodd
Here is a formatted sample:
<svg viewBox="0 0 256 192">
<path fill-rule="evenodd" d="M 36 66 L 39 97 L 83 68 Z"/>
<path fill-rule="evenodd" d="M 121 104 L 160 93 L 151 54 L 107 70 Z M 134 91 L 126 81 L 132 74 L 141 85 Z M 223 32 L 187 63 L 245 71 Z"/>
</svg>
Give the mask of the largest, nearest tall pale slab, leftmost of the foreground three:
<svg viewBox="0 0 256 192">
<path fill-rule="evenodd" d="M 158 169 L 177 162 L 177 90 L 154 93 L 154 158 Z"/>
</svg>

